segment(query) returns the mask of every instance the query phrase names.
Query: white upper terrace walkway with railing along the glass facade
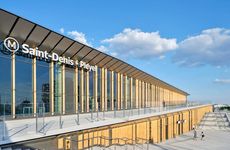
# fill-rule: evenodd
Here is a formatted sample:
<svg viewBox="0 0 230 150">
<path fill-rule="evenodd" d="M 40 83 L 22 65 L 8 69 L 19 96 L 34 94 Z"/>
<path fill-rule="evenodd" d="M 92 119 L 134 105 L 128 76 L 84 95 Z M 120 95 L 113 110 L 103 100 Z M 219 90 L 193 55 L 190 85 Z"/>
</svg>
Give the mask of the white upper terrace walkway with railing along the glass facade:
<svg viewBox="0 0 230 150">
<path fill-rule="evenodd" d="M 140 116 L 146 117 L 154 115 L 156 113 L 168 112 L 176 109 L 189 108 L 194 106 L 203 105 L 204 103 L 185 103 L 181 105 L 168 105 L 165 107 L 145 107 L 145 108 L 135 108 L 135 109 L 122 109 L 122 110 L 113 110 L 113 111 L 91 111 L 88 113 L 75 113 L 71 115 L 64 115 L 62 112 L 50 115 L 49 112 L 46 112 L 45 104 L 37 105 L 37 113 L 30 114 L 30 118 L 23 119 L 23 123 L 16 123 L 17 120 L 8 118 L 12 117 L 11 115 L 0 116 L 0 140 L 4 141 L 9 139 L 12 136 L 20 137 L 24 136 L 24 133 L 30 132 L 31 134 L 41 134 L 47 135 L 48 132 L 53 132 L 58 129 L 64 129 L 69 127 L 75 127 L 79 125 L 97 123 L 109 119 L 119 119 L 119 121 L 128 121 L 130 119 L 140 118 Z M 41 108 L 41 109 L 40 109 Z M 25 115 L 21 115 L 22 118 Z M 20 118 L 20 117 L 19 117 Z M 25 121 L 24 121 L 25 120 Z M 8 128 L 8 124 L 14 122 L 14 127 Z M 20 132 L 19 132 L 20 131 Z"/>
</svg>

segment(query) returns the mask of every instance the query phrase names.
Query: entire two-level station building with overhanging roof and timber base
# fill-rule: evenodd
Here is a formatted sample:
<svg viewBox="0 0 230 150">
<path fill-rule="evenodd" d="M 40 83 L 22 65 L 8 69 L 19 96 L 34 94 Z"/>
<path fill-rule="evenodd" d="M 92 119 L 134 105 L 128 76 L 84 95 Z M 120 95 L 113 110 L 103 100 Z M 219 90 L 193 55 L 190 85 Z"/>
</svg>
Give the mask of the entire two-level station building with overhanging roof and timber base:
<svg viewBox="0 0 230 150">
<path fill-rule="evenodd" d="M 41 125 L 37 121 L 34 131 L 34 117 L 42 113 L 49 124 L 59 116 L 175 107 L 185 105 L 188 95 L 118 58 L 0 9 L 0 126 L 4 127 L 0 149 L 69 150 L 124 141 L 162 142 L 192 130 L 212 111 L 212 105 L 130 120 L 110 118 L 111 123 L 102 121 L 91 127 L 90 122 L 62 129 L 60 121 L 60 128 L 52 126 L 55 132 L 43 136 L 37 132 Z M 13 133 L 17 124 L 25 126 L 23 119 L 26 128 Z M 41 129 L 46 128 L 44 119 L 43 125 Z"/>
</svg>

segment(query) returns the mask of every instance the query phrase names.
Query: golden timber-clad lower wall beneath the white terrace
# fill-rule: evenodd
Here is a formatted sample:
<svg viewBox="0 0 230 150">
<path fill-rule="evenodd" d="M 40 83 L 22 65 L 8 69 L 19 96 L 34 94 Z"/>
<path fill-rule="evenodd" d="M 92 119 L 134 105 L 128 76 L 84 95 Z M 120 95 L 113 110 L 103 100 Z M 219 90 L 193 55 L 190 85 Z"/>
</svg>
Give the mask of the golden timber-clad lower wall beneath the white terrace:
<svg viewBox="0 0 230 150">
<path fill-rule="evenodd" d="M 58 139 L 58 149 L 87 149 L 92 146 L 159 143 L 189 132 L 213 106 L 167 113 L 164 115 L 93 128 L 71 133 Z M 71 138 L 71 139 L 70 139 Z"/>
</svg>

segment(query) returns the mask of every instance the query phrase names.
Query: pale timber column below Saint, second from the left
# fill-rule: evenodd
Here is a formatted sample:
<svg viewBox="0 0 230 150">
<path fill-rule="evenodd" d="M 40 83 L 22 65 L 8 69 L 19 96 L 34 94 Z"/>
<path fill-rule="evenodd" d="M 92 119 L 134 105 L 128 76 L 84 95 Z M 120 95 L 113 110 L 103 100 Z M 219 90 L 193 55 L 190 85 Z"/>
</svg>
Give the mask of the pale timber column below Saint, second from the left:
<svg viewBox="0 0 230 150">
<path fill-rule="evenodd" d="M 34 117 L 37 113 L 37 78 L 36 78 L 36 57 L 32 60 L 32 99 Z"/>
</svg>

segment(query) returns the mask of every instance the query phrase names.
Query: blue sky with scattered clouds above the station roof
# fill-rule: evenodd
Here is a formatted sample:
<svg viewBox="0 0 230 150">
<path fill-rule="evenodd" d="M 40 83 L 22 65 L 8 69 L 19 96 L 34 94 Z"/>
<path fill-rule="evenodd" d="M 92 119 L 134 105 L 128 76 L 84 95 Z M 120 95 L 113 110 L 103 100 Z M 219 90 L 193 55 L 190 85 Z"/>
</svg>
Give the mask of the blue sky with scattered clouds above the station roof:
<svg viewBox="0 0 230 150">
<path fill-rule="evenodd" d="M 230 103 L 228 0 L 2 0 L 0 7 L 123 59 L 189 100 Z"/>
</svg>

